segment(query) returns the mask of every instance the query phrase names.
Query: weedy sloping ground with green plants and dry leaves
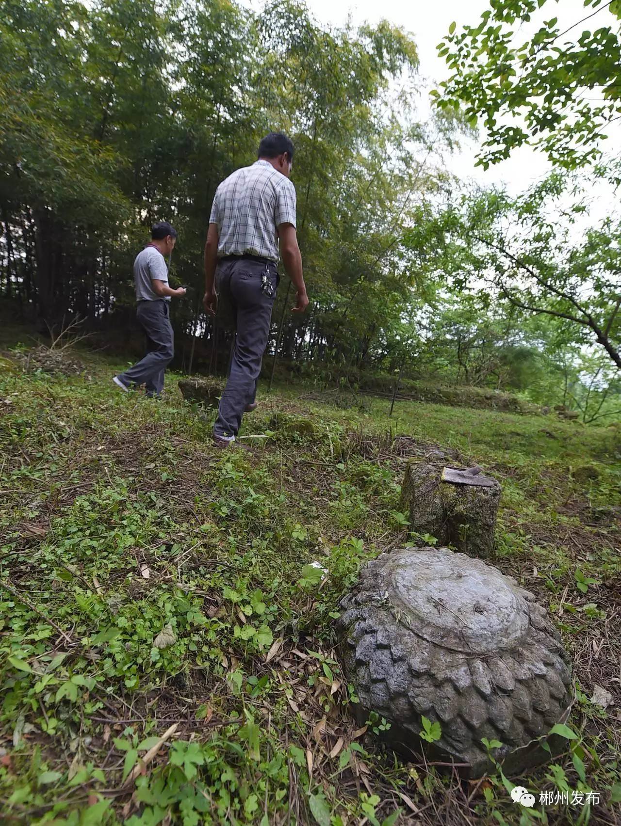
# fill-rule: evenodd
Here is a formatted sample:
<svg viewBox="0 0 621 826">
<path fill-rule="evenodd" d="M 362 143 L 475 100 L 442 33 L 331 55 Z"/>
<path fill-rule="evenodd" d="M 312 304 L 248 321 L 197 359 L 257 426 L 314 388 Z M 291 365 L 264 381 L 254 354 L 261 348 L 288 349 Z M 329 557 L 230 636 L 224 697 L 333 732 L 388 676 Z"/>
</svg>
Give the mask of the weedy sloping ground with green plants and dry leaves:
<svg viewBox="0 0 621 826">
<path fill-rule="evenodd" d="M 80 358 L 87 376 L 0 365 L 3 823 L 619 822 L 619 425 L 411 402 L 389 419 L 287 387 L 222 451 L 173 375 L 148 400 Z M 571 653 L 566 751 L 510 778 L 558 800 L 533 810 L 500 770 L 403 764 L 384 721 L 353 722 L 338 602 L 369 558 L 434 541 L 399 510 L 430 445 L 499 478 L 496 563 Z"/>
</svg>

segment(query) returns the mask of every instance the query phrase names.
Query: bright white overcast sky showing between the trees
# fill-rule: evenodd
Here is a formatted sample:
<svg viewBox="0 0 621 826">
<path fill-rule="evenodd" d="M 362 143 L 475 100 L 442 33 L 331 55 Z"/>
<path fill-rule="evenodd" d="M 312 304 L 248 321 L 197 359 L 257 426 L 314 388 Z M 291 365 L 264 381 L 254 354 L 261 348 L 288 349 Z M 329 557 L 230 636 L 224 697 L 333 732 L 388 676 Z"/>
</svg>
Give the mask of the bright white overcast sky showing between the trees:
<svg viewBox="0 0 621 826">
<path fill-rule="evenodd" d="M 246 2 L 257 11 L 262 5 L 260 0 L 246 0 Z M 457 31 L 466 23 L 475 25 L 480 20 L 481 12 L 490 7 L 489 0 L 435 0 L 435 2 L 429 2 L 429 0 L 424 0 L 424 2 L 423 0 L 381 0 L 381 2 L 378 0 L 358 0 L 358 2 L 307 0 L 307 4 L 310 12 L 322 24 L 342 26 L 351 16 L 351 21 L 355 26 L 365 22 L 375 24 L 381 19 L 386 19 L 402 27 L 413 36 L 418 46 L 420 74 L 434 81 L 443 80 L 448 75 L 447 65 L 444 59 L 437 56 L 436 46 L 447 34 L 451 22 L 456 21 Z M 537 24 L 535 28 L 538 28 L 542 20 L 558 17 L 560 31 L 564 31 L 591 12 L 592 9 L 585 9 L 583 0 L 548 0 L 534 18 Z M 614 19 L 604 9 L 588 23 L 576 26 L 576 30 L 572 31 L 567 39 L 585 28 L 590 27 L 590 30 L 594 31 L 595 28 L 609 25 Z M 526 40 L 532 31 L 533 26 L 526 27 L 523 31 L 523 39 Z M 610 135 L 606 143 L 612 149 L 614 141 L 612 130 L 610 130 Z M 616 131 L 616 135 L 621 135 L 621 130 Z M 461 142 L 463 145 L 463 139 Z M 541 178 L 551 169 L 542 153 L 530 147 L 523 147 L 514 150 L 508 160 L 495 164 L 484 172 L 480 167 L 475 167 L 475 149 L 475 142 L 471 145 L 466 143 L 461 153 L 451 159 L 449 164 L 451 171 L 460 178 L 474 178 L 483 186 L 506 183 L 509 191 L 514 195 L 523 192 L 530 183 Z M 598 204 L 595 212 L 605 214 L 606 206 L 611 203 L 616 206 L 616 199 L 611 197 L 608 190 L 601 192 L 600 199 L 603 202 Z"/>
</svg>

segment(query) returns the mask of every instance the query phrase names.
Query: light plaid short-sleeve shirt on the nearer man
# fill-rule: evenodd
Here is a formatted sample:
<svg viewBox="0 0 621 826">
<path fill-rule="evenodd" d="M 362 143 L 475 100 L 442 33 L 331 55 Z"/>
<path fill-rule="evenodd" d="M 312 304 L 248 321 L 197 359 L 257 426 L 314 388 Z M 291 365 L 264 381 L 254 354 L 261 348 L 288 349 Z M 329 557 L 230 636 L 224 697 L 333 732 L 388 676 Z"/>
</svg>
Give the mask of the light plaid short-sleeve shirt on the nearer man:
<svg viewBox="0 0 621 826">
<path fill-rule="evenodd" d="M 217 255 L 260 255 L 278 261 L 280 224 L 295 226 L 295 187 L 266 160 L 237 169 L 216 190 L 210 224 Z"/>
</svg>

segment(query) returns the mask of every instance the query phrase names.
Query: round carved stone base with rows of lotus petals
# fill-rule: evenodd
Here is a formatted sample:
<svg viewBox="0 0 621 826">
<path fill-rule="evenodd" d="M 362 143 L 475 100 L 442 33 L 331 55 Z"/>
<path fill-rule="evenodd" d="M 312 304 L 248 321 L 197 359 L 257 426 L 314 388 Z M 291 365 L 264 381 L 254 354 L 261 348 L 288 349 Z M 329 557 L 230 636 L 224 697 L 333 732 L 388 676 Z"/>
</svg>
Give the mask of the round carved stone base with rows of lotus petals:
<svg viewBox="0 0 621 826">
<path fill-rule="evenodd" d="M 405 548 L 369 563 L 341 610 L 358 722 L 385 716 L 390 747 L 464 764 L 466 776 L 492 768 L 482 738 L 502 743 L 506 773 L 549 756 L 533 740 L 566 717 L 571 675 L 557 630 L 514 579 L 448 548 Z M 423 714 L 442 729 L 434 743 L 419 737 Z M 555 735 L 548 744 L 563 748 Z"/>
</svg>

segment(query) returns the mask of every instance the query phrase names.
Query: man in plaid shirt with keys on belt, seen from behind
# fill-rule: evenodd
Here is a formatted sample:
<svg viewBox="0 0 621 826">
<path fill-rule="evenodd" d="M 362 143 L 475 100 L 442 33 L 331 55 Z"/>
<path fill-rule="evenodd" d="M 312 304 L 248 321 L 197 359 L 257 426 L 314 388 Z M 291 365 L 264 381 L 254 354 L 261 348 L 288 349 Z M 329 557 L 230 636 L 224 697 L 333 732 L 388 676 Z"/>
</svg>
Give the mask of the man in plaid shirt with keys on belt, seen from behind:
<svg viewBox="0 0 621 826">
<path fill-rule="evenodd" d="M 270 132 L 259 159 L 222 181 L 213 198 L 205 244 L 205 310 L 227 316 L 236 330 L 227 387 L 220 399 L 213 438 L 220 447 L 235 440 L 245 411 L 256 408 L 256 383 L 270 334 L 279 283 L 280 256 L 297 292 L 292 312 L 308 296 L 295 231 L 295 188 L 289 180 L 294 145 Z"/>
</svg>

